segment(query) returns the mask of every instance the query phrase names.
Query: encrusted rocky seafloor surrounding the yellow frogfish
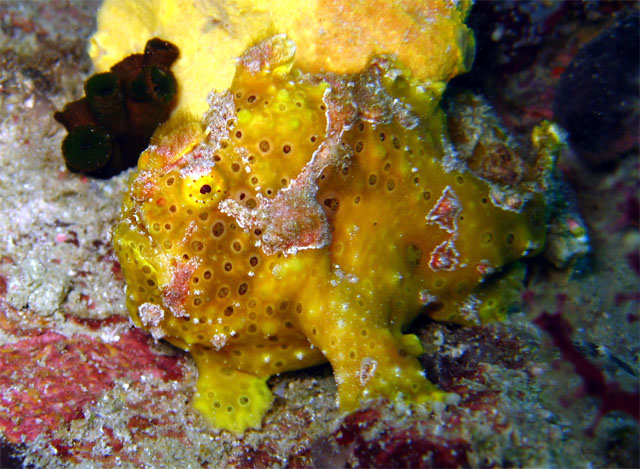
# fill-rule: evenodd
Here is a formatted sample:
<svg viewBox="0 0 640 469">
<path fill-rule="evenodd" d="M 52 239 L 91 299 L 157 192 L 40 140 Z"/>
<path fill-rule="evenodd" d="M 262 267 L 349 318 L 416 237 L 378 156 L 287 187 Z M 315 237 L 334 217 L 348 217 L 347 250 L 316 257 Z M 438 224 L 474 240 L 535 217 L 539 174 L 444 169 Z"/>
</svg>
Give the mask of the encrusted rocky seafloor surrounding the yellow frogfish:
<svg viewBox="0 0 640 469">
<path fill-rule="evenodd" d="M 578 51 L 637 3 L 478 2 L 471 12 L 476 62 L 452 93 L 484 95 L 517 137 L 554 109 L 585 114 L 558 168 L 590 252 L 564 268 L 531 260 L 502 323 L 416 322 L 429 379 L 460 402 L 433 415 L 381 402 L 341 416 L 325 365 L 272 378 L 273 409 L 242 439 L 190 407 L 190 357 L 128 320 L 110 245 L 127 173 L 79 176 L 60 154 L 52 114 L 91 72 L 98 6 L 0 0 L 1 468 L 639 466 L 637 21 L 614 31 L 635 38 L 635 60 L 633 47 L 583 54 L 581 73 L 595 79 L 558 92 Z M 587 122 L 589 93 L 606 98 L 593 103 L 608 125 Z M 561 311 L 571 340 L 558 321 L 551 334 L 536 325 L 545 311 Z"/>
</svg>

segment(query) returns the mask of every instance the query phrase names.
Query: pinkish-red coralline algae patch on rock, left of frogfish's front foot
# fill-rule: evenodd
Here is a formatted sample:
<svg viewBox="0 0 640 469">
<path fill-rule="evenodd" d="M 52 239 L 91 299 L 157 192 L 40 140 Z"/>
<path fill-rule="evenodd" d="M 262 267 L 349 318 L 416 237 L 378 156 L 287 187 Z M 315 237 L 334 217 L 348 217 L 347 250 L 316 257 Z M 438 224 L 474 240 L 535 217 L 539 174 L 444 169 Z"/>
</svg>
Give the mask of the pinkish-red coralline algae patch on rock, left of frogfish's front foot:
<svg viewBox="0 0 640 469">
<path fill-rule="evenodd" d="M 0 303 L 0 326 L 11 325 Z M 182 358 L 154 353 L 149 338 L 126 330 L 105 342 L 88 334 L 70 337 L 53 330 L 22 332 L 0 347 L 0 430 L 11 443 L 33 441 L 42 433 L 84 418 L 84 409 L 117 380 L 143 375 L 182 377 Z"/>
</svg>

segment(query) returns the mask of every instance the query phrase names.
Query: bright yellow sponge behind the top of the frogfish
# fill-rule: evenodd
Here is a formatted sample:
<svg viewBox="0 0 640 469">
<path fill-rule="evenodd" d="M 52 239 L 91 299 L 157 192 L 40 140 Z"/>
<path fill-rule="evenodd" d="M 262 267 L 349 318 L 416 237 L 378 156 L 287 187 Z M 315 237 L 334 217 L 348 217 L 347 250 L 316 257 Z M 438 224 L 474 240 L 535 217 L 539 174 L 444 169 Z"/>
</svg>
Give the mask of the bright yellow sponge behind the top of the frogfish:
<svg viewBox="0 0 640 469">
<path fill-rule="evenodd" d="M 89 54 L 96 72 L 160 37 L 180 49 L 172 72 L 178 106 L 196 116 L 214 89 L 229 88 L 235 59 L 257 40 L 285 33 L 296 67 L 354 73 L 372 55 L 396 54 L 422 80 L 447 81 L 468 70 L 474 39 L 464 24 L 470 0 L 105 0 Z"/>
</svg>

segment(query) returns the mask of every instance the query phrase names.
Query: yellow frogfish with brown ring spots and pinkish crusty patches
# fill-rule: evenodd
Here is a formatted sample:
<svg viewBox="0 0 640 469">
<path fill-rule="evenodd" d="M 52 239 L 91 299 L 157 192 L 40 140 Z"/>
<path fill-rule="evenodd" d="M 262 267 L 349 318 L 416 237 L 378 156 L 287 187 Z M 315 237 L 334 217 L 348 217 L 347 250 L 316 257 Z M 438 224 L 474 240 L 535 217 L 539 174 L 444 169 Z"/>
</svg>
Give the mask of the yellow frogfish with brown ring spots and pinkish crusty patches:
<svg viewBox="0 0 640 469">
<path fill-rule="evenodd" d="M 326 361 L 343 411 L 448 401 L 403 330 L 423 308 L 499 317 L 508 279 L 486 274 L 544 241 L 541 195 L 505 209 L 455 162 L 439 91 L 385 58 L 304 74 L 294 51 L 283 36 L 249 49 L 202 121 L 159 129 L 114 233 L 134 322 L 192 353 L 194 406 L 237 433 L 261 425 L 271 375 Z"/>
</svg>

